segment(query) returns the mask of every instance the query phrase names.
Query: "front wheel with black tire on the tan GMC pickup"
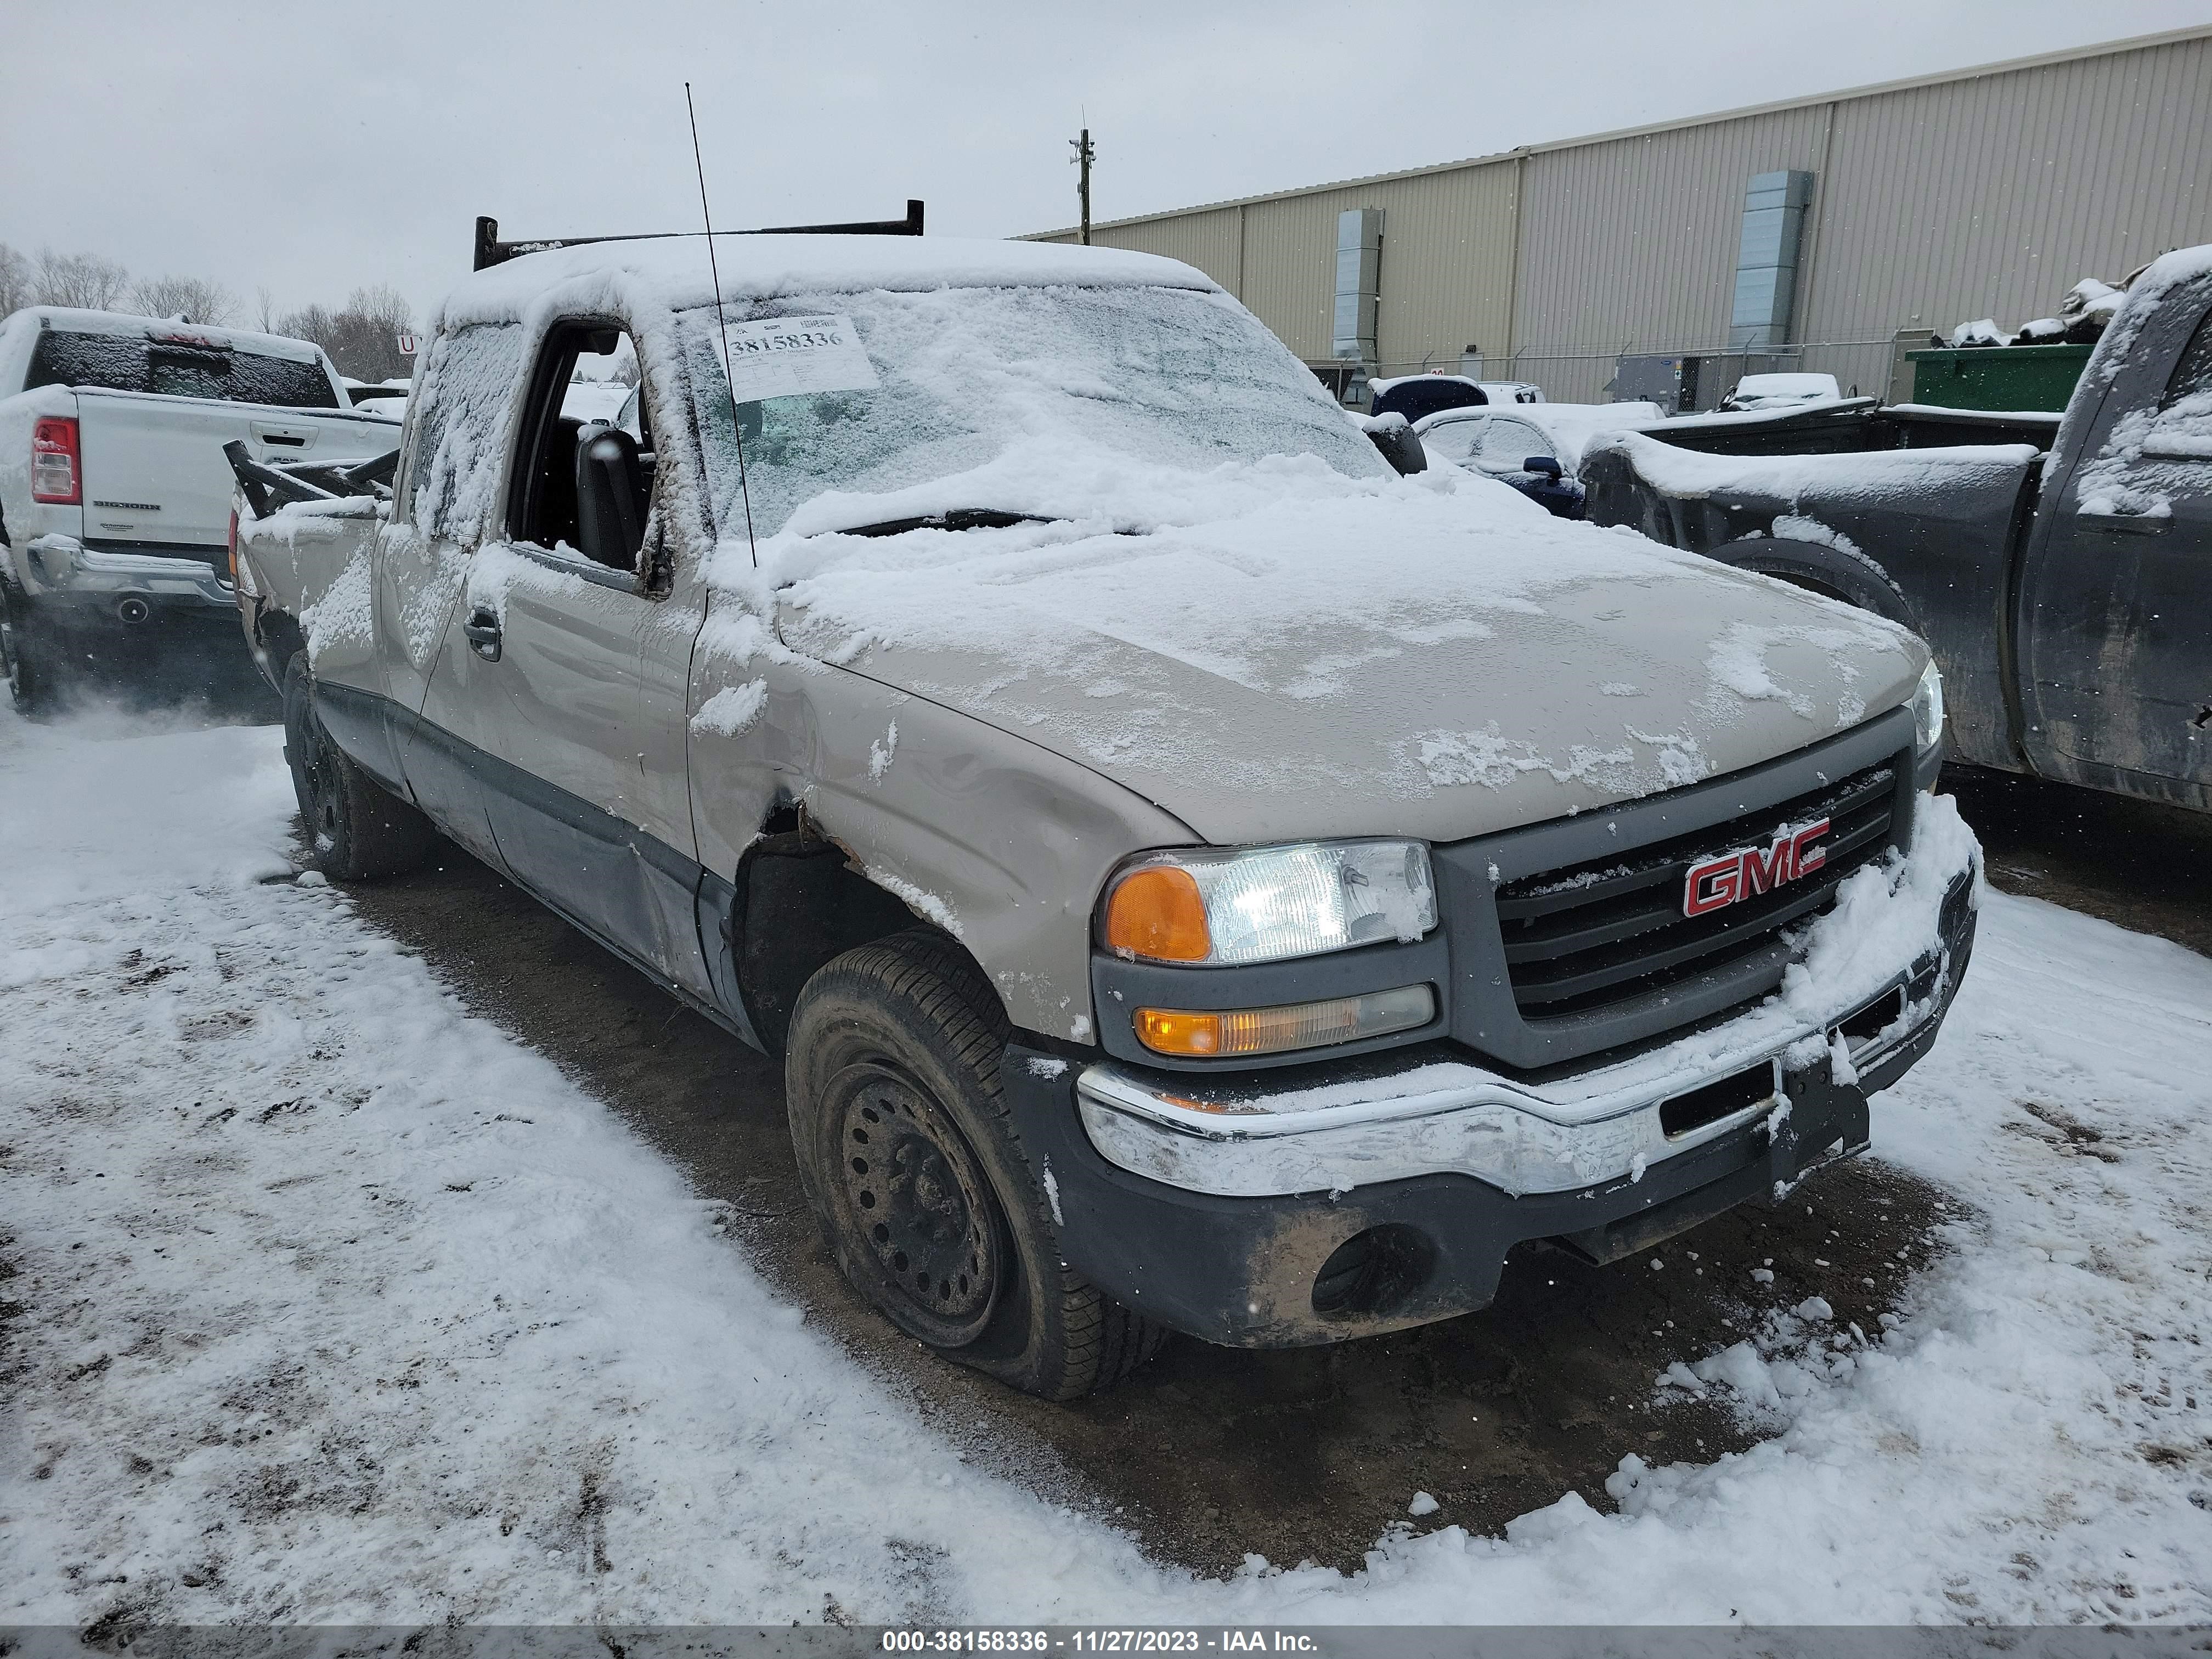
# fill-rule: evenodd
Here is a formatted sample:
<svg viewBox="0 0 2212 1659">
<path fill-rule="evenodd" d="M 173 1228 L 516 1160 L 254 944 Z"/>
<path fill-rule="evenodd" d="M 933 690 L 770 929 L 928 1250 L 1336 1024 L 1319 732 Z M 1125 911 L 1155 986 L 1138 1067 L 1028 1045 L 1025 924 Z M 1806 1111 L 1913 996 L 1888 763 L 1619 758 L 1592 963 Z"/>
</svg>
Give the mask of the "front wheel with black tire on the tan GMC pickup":
<svg viewBox="0 0 2212 1659">
<path fill-rule="evenodd" d="M 1073 1400 L 1166 1329 L 1060 1259 L 998 1084 L 1006 1011 L 936 933 L 845 951 L 792 1011 L 783 1060 L 807 1201 L 854 1290 L 945 1358 Z"/>
</svg>

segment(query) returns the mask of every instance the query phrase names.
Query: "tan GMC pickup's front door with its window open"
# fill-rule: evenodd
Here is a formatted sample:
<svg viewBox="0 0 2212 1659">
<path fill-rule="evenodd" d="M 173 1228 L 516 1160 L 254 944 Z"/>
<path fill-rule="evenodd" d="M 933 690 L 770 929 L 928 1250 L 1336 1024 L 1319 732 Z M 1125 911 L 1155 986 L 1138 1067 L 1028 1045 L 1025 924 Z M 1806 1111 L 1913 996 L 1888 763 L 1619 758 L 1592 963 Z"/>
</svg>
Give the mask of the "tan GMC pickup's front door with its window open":
<svg viewBox="0 0 2212 1659">
<path fill-rule="evenodd" d="M 644 442 L 615 429 L 637 467 L 615 531 L 580 515 L 580 438 L 611 431 L 562 414 L 580 361 L 611 369 L 635 349 L 611 319 L 549 330 L 513 427 L 504 526 L 469 557 L 427 708 L 473 757 L 515 880 L 710 995 L 681 703 L 701 608 L 661 531 L 650 418 Z M 586 515 L 593 500 L 608 498 L 586 491 Z"/>
</svg>

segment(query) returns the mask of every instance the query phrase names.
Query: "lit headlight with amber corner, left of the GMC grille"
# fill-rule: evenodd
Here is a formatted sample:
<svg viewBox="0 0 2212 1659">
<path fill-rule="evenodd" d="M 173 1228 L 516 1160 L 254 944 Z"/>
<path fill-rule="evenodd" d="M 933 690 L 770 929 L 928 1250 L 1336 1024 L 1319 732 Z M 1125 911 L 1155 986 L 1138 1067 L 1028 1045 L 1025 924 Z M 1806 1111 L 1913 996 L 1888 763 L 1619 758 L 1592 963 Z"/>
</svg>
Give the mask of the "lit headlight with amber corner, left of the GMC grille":
<svg viewBox="0 0 2212 1659">
<path fill-rule="evenodd" d="M 1418 940 L 1431 927 L 1436 883 L 1418 841 L 1155 852 L 1115 872 L 1099 902 L 1106 949 L 1192 967 Z"/>
</svg>

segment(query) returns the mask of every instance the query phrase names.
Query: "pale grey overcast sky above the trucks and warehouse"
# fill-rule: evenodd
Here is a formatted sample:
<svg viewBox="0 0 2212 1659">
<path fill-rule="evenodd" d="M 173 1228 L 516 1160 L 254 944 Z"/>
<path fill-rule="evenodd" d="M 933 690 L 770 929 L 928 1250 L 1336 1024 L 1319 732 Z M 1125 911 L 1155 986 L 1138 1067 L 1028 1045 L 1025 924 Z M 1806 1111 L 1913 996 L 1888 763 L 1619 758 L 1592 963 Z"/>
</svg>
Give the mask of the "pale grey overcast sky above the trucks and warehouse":
<svg viewBox="0 0 2212 1659">
<path fill-rule="evenodd" d="M 2212 20 L 2208 0 L 1110 0 L 1055 7 L 0 0 L 0 241 L 252 312 L 504 234 L 896 217 L 1004 237 Z M 246 321 L 246 319 L 241 319 Z"/>
</svg>

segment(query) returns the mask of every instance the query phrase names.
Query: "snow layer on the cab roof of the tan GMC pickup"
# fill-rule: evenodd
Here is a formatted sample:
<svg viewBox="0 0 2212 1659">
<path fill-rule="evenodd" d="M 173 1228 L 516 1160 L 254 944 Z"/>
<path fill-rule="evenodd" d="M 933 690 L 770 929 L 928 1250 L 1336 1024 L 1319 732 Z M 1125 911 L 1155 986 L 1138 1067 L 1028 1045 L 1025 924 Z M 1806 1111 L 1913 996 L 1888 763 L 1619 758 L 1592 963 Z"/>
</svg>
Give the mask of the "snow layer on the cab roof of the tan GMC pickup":
<svg viewBox="0 0 2212 1659">
<path fill-rule="evenodd" d="M 964 237 L 757 237 L 719 232 L 726 301 L 940 288 L 1194 288 L 1214 281 L 1179 259 L 1124 248 L 1064 248 Z M 595 241 L 522 254 L 465 276 L 436 325 L 515 323 L 553 294 L 599 290 L 611 301 L 681 312 L 714 303 L 706 237 Z"/>
</svg>

